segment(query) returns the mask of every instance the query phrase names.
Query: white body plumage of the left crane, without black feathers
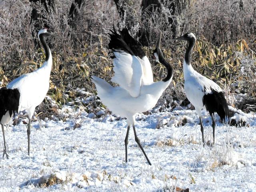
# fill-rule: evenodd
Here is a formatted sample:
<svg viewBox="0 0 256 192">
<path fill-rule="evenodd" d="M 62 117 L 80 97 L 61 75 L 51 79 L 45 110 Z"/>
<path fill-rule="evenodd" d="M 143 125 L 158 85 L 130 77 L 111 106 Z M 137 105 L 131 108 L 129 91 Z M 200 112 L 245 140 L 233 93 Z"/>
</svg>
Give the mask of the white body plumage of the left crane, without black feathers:
<svg viewBox="0 0 256 192">
<path fill-rule="evenodd" d="M 36 106 L 45 98 L 49 90 L 49 78 L 52 68 L 52 55 L 44 64 L 31 73 L 24 74 L 7 85 L 7 88 L 18 88 L 20 92 L 20 104 L 18 111 L 28 110 L 29 118 L 32 118 Z"/>
</svg>

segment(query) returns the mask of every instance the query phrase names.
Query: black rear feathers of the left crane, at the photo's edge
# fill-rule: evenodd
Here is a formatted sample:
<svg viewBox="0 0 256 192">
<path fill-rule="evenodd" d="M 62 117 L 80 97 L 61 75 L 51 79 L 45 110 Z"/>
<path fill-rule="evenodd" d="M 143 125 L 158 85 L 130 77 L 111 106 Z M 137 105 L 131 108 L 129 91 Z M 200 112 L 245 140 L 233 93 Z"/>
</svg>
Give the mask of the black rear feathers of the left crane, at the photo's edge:
<svg viewBox="0 0 256 192">
<path fill-rule="evenodd" d="M 0 120 L 9 111 L 10 117 L 18 113 L 20 92 L 18 89 L 0 88 Z"/>
</svg>

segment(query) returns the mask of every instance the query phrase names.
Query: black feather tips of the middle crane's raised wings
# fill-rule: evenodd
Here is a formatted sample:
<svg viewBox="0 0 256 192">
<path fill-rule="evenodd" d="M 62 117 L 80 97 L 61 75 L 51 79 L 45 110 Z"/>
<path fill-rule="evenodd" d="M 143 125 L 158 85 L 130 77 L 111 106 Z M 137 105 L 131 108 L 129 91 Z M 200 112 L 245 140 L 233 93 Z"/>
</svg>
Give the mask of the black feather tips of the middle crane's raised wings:
<svg viewBox="0 0 256 192">
<path fill-rule="evenodd" d="M 108 43 L 110 49 L 114 51 L 124 51 L 140 58 L 146 56 L 139 42 L 130 36 L 127 28 L 118 30 L 119 34 L 116 32 L 115 28 L 110 30 L 110 32 L 110 42 Z"/>
</svg>

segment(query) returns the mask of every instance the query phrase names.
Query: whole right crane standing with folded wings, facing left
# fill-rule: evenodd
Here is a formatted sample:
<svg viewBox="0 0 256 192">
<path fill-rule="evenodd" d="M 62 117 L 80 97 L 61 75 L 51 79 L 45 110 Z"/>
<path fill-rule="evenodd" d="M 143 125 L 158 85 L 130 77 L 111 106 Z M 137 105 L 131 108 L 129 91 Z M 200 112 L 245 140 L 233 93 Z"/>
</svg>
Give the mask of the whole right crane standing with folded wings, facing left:
<svg viewBox="0 0 256 192">
<path fill-rule="evenodd" d="M 183 36 L 174 38 L 172 40 L 185 40 L 188 41 L 188 48 L 186 49 L 185 58 L 183 62 L 184 72 L 184 88 L 188 100 L 194 105 L 196 112 L 199 116 L 202 142 L 204 145 L 204 127 L 202 125 L 201 110 L 204 108 L 212 117 L 212 129 L 213 129 L 213 144 L 215 134 L 215 122 L 213 118 L 214 112 L 217 112 L 222 122 L 226 117 L 229 117 L 228 104 L 222 92 L 220 86 L 218 86 L 212 80 L 202 76 L 196 72 L 191 66 L 190 56 L 194 48 L 196 37 L 193 33 L 186 33 Z"/>
</svg>

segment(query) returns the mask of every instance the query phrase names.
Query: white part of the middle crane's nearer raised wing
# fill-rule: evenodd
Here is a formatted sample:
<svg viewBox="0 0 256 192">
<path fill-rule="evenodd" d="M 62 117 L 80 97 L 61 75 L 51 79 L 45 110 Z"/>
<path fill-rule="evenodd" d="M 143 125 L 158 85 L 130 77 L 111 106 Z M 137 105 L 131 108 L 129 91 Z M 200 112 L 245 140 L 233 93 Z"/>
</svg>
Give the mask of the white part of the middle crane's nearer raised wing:
<svg viewBox="0 0 256 192">
<path fill-rule="evenodd" d="M 142 65 L 136 56 L 124 51 L 114 51 L 114 77 L 111 81 L 129 92 L 132 97 L 140 95 L 142 82 Z"/>
</svg>

